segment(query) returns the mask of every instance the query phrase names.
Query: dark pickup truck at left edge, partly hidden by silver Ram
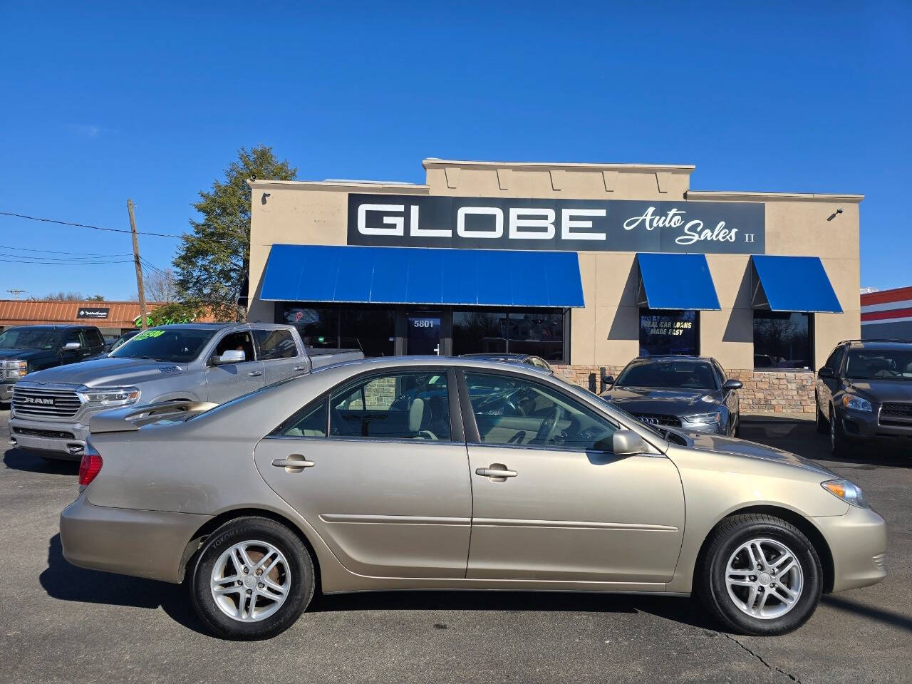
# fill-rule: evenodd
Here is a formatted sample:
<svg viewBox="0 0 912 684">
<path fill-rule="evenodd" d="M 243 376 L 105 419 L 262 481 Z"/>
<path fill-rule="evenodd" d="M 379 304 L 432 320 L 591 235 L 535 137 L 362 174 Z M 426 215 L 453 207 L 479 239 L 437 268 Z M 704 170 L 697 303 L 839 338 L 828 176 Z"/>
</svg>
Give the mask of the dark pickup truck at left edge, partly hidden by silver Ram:
<svg viewBox="0 0 912 684">
<path fill-rule="evenodd" d="M 13 398 L 13 387 L 36 370 L 97 357 L 104 337 L 94 326 L 13 326 L 0 334 L 0 401 Z"/>
</svg>

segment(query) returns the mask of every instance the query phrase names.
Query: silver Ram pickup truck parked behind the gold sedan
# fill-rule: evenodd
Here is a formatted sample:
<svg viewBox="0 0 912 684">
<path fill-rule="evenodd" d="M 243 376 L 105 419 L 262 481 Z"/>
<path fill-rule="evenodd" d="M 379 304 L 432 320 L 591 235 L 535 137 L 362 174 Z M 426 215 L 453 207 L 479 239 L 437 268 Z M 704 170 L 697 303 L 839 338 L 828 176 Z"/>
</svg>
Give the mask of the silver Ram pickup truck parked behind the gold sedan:
<svg viewBox="0 0 912 684">
<path fill-rule="evenodd" d="M 171 399 L 221 404 L 313 368 L 364 358 L 360 350 L 325 351 L 308 353 L 294 326 L 151 327 L 105 358 L 16 382 L 10 443 L 46 458 L 79 460 L 88 421 L 100 411 Z"/>
</svg>

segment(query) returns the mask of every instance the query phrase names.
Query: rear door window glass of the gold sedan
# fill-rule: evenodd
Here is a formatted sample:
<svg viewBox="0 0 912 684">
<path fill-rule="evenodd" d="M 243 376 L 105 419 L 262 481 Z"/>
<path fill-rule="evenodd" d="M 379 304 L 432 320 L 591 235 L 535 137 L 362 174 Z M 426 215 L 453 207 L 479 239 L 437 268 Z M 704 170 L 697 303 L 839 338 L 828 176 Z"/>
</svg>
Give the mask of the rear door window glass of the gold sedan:
<svg viewBox="0 0 912 684">
<path fill-rule="evenodd" d="M 400 372 L 363 378 L 329 398 L 333 437 L 449 440 L 446 373 Z"/>
</svg>

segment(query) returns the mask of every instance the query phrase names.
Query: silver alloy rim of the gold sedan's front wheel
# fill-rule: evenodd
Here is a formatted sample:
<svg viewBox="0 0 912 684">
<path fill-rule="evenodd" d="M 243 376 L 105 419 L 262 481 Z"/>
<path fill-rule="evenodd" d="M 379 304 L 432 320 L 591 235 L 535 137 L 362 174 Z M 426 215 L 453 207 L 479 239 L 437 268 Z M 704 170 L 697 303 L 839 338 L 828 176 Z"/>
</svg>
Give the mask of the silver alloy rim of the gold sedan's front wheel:
<svg viewBox="0 0 912 684">
<path fill-rule="evenodd" d="M 751 539 L 731 554 L 725 568 L 725 586 L 742 613 L 772 620 L 798 603 L 804 574 L 797 556 L 782 542 Z"/>
</svg>

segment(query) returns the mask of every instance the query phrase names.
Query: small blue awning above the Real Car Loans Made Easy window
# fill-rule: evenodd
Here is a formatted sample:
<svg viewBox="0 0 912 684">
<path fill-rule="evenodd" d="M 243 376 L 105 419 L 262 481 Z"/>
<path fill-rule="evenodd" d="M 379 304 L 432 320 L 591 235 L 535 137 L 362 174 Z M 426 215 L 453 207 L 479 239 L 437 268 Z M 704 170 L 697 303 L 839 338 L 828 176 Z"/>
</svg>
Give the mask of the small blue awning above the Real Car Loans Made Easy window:
<svg viewBox="0 0 912 684">
<path fill-rule="evenodd" d="M 637 304 L 650 309 L 718 310 L 704 254 L 637 254 Z"/>
</svg>

